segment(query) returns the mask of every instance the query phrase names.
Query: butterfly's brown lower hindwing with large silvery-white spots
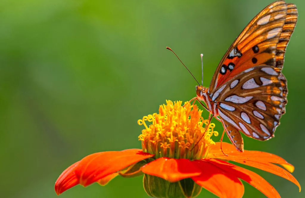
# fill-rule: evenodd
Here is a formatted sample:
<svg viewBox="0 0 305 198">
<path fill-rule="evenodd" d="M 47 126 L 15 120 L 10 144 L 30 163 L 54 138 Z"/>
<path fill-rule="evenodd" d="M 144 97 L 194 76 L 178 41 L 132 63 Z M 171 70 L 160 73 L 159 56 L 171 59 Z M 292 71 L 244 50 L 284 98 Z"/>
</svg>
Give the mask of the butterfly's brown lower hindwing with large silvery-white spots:
<svg viewBox="0 0 305 198">
<path fill-rule="evenodd" d="M 218 97 L 221 119 L 249 137 L 267 140 L 274 136 L 285 113 L 287 86 L 275 67 L 259 65 L 236 75 Z"/>
</svg>

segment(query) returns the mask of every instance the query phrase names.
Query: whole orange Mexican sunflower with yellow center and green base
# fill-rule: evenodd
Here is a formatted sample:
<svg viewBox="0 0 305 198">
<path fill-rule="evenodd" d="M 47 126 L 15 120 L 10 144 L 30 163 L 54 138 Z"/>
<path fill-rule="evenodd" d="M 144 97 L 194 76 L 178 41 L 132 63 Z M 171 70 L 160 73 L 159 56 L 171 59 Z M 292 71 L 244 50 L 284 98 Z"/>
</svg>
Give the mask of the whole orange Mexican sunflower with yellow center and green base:
<svg viewBox="0 0 305 198">
<path fill-rule="evenodd" d="M 219 197 L 242 197 L 241 180 L 264 193 L 280 197 L 274 187 L 258 174 L 228 161 L 268 171 L 295 183 L 289 173 L 294 167 L 279 156 L 261 151 L 239 152 L 228 143 L 212 141 L 215 125 L 204 120 L 196 105 L 167 101 L 159 113 L 138 120 L 145 129 L 139 135 L 142 149 L 106 151 L 88 155 L 72 164 L 59 176 L 55 191 L 60 195 L 75 185 L 94 182 L 106 185 L 120 175 L 125 178 L 143 175 L 146 193 L 153 197 L 196 197 L 202 188 Z M 147 123 L 150 123 L 148 126 Z M 275 164 L 279 164 L 279 167 Z"/>
</svg>

